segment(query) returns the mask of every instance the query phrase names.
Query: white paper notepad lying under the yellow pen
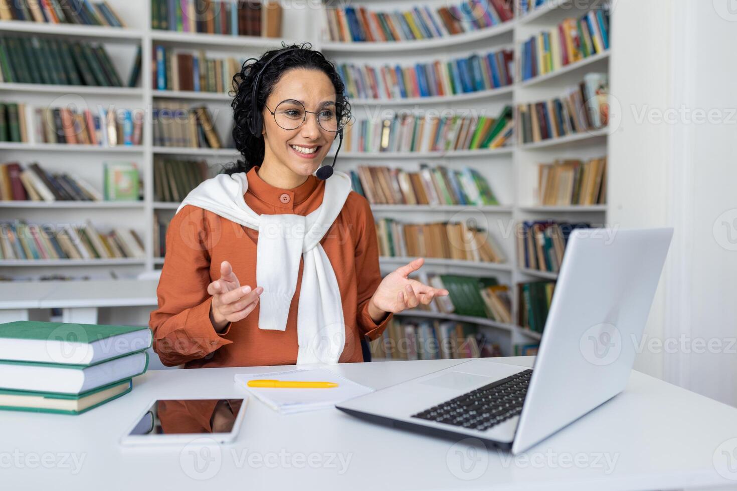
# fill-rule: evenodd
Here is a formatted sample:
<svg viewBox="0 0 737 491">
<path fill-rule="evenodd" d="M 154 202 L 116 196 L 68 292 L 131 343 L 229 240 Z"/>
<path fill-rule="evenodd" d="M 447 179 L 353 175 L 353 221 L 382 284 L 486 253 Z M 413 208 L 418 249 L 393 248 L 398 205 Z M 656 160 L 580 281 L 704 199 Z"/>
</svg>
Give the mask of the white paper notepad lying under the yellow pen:
<svg viewBox="0 0 737 491">
<path fill-rule="evenodd" d="M 234 378 L 238 386 L 248 390 L 262 403 L 281 414 L 332 408 L 343 400 L 374 392 L 374 389 L 370 387 L 357 384 L 325 368 L 287 370 L 286 372 L 237 373 Z M 254 378 L 335 382 L 338 386 L 331 389 L 271 389 L 247 386 L 246 383 Z"/>
</svg>

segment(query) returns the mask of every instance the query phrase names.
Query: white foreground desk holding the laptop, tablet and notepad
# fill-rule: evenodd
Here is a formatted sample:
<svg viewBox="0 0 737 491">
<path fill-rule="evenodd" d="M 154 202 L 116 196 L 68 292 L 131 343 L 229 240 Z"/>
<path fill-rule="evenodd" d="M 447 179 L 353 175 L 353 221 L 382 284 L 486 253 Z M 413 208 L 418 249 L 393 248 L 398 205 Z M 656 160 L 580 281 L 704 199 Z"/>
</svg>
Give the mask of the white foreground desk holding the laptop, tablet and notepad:
<svg viewBox="0 0 737 491">
<path fill-rule="evenodd" d="M 500 361 L 530 366 L 532 358 Z M 458 362 L 384 361 L 342 364 L 335 370 L 380 388 Z M 237 441 L 220 447 L 220 455 L 200 454 L 208 460 L 198 460 L 197 468 L 196 454 L 189 453 L 196 451 L 192 445 L 122 448 L 117 443 L 157 396 L 234 398 L 246 393 L 234 384 L 234 374 L 278 368 L 153 371 L 136 378 L 130 394 L 79 417 L 1 413 L 2 487 L 344 491 L 737 485 L 737 480 L 720 476 L 714 464 L 715 452 L 719 459 L 724 457 L 719 451 L 725 447 L 719 446 L 737 437 L 737 409 L 634 371 L 621 395 L 514 458 L 499 451 L 473 453 L 473 448 L 465 453 L 469 448 L 454 447 L 450 440 L 374 425 L 337 409 L 280 416 L 254 398 Z M 70 453 L 80 466 L 75 467 Z M 461 467 L 464 455 L 466 467 Z M 605 457 L 615 462 L 613 468 L 607 467 Z M 8 467 L 10 458 L 16 463 Z M 51 468 L 39 463 L 43 459 Z M 208 476 L 206 481 L 196 479 Z"/>
</svg>

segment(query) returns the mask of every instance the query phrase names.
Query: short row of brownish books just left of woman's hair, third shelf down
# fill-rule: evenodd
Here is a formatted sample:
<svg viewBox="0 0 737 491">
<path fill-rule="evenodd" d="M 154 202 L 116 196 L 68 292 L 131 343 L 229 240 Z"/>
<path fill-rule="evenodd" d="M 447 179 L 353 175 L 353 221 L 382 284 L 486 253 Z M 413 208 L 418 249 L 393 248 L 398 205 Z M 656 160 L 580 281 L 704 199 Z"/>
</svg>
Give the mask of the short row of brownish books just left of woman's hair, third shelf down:
<svg viewBox="0 0 737 491">
<path fill-rule="evenodd" d="M 158 101 L 153 107 L 153 144 L 187 148 L 223 148 L 206 106 Z"/>
</svg>

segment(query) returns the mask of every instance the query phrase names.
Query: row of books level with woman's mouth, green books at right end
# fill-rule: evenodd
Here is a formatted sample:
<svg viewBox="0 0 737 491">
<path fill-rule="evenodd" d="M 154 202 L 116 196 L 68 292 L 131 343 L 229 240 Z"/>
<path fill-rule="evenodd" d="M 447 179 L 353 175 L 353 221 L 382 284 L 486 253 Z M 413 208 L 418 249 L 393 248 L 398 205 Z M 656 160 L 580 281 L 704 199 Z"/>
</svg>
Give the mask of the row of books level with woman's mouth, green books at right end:
<svg viewBox="0 0 737 491">
<path fill-rule="evenodd" d="M 346 152 L 495 149 L 511 141 L 513 129 L 509 106 L 496 118 L 475 113 L 436 116 L 434 113 L 399 112 L 389 118 L 357 119 L 349 124 L 343 148 Z"/>
</svg>

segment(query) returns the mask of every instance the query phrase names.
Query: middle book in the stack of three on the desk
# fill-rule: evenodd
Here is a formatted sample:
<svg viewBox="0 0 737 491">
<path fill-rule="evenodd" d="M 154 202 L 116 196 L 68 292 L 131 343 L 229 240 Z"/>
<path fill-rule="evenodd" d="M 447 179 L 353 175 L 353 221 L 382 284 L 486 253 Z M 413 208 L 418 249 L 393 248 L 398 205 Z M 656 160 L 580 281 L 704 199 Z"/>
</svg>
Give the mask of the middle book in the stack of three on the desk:
<svg viewBox="0 0 737 491">
<path fill-rule="evenodd" d="M 0 388 L 79 395 L 142 375 L 148 353 L 139 351 L 94 365 L 0 361 Z"/>
</svg>

